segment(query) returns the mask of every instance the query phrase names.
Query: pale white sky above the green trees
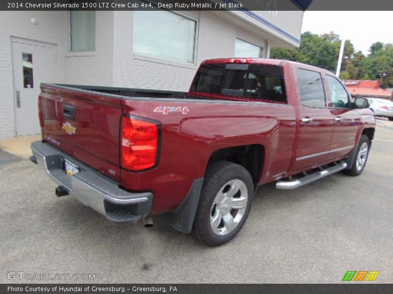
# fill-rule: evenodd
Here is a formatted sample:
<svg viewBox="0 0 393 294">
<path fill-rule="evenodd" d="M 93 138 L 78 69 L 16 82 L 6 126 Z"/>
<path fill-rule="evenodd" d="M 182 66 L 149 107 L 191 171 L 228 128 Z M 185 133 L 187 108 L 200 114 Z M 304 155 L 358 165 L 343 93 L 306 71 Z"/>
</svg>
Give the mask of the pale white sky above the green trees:
<svg viewBox="0 0 393 294">
<path fill-rule="evenodd" d="M 355 51 L 368 54 L 372 43 L 393 43 L 392 11 L 306 11 L 302 33 L 324 34 L 333 31 L 351 40 Z"/>
</svg>

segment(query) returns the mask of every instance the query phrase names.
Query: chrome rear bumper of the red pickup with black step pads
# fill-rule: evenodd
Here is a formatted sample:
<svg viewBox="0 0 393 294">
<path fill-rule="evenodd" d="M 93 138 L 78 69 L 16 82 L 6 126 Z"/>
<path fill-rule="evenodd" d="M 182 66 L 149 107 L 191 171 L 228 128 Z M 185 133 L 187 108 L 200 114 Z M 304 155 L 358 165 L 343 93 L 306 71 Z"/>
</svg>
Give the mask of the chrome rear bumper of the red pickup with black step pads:
<svg viewBox="0 0 393 294">
<path fill-rule="evenodd" d="M 152 193 L 127 192 L 112 180 L 47 143 L 33 142 L 31 150 L 38 165 L 58 185 L 109 220 L 135 222 L 149 215 L 153 202 Z M 63 169 L 65 158 L 78 165 L 80 172 L 73 176 L 66 174 Z"/>
</svg>

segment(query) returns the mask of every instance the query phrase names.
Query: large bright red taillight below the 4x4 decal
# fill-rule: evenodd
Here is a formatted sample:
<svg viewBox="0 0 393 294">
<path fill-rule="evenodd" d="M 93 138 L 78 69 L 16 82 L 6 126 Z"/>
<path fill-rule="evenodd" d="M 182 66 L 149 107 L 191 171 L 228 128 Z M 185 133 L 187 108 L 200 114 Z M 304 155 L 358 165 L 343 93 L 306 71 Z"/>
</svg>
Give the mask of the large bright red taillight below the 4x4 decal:
<svg viewBox="0 0 393 294">
<path fill-rule="evenodd" d="M 154 167 L 158 152 L 158 125 L 123 116 L 121 165 L 132 171 Z"/>
</svg>

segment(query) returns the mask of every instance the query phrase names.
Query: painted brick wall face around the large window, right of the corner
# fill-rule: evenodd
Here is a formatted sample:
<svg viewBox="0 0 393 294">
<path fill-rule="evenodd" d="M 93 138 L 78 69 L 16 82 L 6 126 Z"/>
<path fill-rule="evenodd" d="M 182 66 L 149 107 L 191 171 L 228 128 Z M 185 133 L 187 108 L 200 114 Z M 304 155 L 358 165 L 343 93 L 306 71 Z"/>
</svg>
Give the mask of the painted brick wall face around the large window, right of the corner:
<svg viewBox="0 0 393 294">
<path fill-rule="evenodd" d="M 204 59 L 234 55 L 235 38 L 242 37 L 265 47 L 266 40 L 210 12 L 189 11 L 179 14 L 197 20 L 195 64 L 179 64 L 133 54 L 133 13 L 114 12 L 113 85 L 187 91 L 198 65 Z"/>
</svg>

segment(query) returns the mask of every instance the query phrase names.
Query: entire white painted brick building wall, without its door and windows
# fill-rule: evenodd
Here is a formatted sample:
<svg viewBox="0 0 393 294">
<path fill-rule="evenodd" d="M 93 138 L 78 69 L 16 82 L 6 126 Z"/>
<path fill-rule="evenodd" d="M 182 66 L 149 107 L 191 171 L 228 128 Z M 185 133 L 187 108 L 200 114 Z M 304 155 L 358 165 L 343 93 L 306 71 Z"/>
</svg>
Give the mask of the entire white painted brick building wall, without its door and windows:
<svg viewBox="0 0 393 294">
<path fill-rule="evenodd" d="M 269 43 L 289 44 L 261 30 L 263 25 L 247 20 L 241 12 L 179 13 L 197 21 L 195 64 L 133 54 L 132 11 L 96 12 L 94 52 L 69 52 L 67 11 L 0 12 L 0 139 L 15 136 L 11 37 L 56 44 L 59 83 L 171 91 L 187 91 L 202 60 L 233 56 L 236 37 L 263 47 L 267 54 Z M 32 17 L 38 20 L 37 25 L 30 23 Z M 302 13 L 289 20 L 290 25 L 300 27 L 301 19 Z"/>
</svg>

